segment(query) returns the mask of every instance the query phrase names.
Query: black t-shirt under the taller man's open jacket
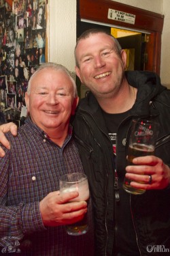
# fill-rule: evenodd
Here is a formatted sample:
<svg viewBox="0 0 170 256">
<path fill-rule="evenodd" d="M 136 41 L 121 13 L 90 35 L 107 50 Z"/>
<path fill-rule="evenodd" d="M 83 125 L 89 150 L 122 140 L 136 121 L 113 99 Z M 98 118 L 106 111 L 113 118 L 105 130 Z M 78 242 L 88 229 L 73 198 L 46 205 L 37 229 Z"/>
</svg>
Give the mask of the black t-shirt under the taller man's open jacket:
<svg viewBox="0 0 170 256">
<path fill-rule="evenodd" d="M 118 126 L 122 120 L 129 115 L 129 111 L 118 114 L 109 114 L 103 112 L 103 118 L 105 119 L 105 125 L 109 137 L 112 141 L 114 159 L 116 161 L 116 136 Z M 116 162 L 115 162 L 116 166 Z M 119 170 L 114 170 L 116 175 L 119 176 Z M 114 186 L 114 184 L 113 184 Z M 133 226 L 133 217 L 131 214 L 130 206 L 130 194 L 126 193 L 122 188 L 122 184 L 119 186 L 120 201 L 116 203 L 116 228 L 115 228 L 115 248 L 114 251 L 122 253 L 123 255 L 137 256 L 139 255 L 139 248 L 137 246 L 137 238 L 135 235 L 135 229 Z"/>
</svg>

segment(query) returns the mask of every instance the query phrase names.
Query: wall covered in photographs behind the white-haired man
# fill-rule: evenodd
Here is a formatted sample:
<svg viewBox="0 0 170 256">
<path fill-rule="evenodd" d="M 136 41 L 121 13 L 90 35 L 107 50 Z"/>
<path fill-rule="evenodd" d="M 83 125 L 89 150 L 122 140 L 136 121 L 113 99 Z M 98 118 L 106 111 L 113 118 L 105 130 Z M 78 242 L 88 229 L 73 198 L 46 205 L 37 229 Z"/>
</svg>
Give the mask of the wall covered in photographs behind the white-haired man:
<svg viewBox="0 0 170 256">
<path fill-rule="evenodd" d="M 24 94 L 37 66 L 46 62 L 46 0 L 0 0 L 0 124 L 20 126 Z"/>
</svg>

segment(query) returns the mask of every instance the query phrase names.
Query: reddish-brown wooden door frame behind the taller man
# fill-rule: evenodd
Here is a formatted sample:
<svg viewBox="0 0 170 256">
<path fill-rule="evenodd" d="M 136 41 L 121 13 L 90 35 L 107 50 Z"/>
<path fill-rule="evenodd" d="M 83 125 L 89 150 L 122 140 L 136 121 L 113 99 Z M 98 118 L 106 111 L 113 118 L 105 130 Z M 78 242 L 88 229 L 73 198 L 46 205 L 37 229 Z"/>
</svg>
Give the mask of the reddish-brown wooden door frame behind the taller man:
<svg viewBox="0 0 170 256">
<path fill-rule="evenodd" d="M 129 24 L 107 18 L 109 9 L 135 15 L 135 23 Z M 146 31 L 148 33 L 146 44 L 148 62 L 145 65 L 145 69 L 160 74 L 161 34 L 164 23 L 162 14 L 149 12 L 112 0 L 78 0 L 78 20 L 88 20 L 89 22 L 91 20 L 110 27 Z"/>
</svg>

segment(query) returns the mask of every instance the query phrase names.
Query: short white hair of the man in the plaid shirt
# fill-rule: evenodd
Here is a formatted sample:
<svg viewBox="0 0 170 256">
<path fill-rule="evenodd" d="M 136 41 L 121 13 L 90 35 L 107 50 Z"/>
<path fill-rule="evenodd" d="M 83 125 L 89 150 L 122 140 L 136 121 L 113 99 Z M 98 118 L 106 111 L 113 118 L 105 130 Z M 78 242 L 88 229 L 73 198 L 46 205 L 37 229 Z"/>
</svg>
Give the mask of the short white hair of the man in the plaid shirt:
<svg viewBox="0 0 170 256">
<path fill-rule="evenodd" d="M 30 89 L 31 89 L 31 83 L 33 78 L 41 71 L 41 70 L 45 70 L 45 69 L 50 69 L 50 70 L 56 70 L 56 71 L 61 71 L 63 73 L 65 73 L 68 78 L 70 79 L 72 85 L 73 85 L 73 97 L 77 98 L 78 97 L 78 90 L 77 90 L 77 86 L 75 84 L 75 81 L 73 79 L 73 77 L 71 76 L 71 72 L 69 72 L 69 70 L 67 70 L 67 68 L 65 68 L 65 66 L 58 64 L 58 63 L 53 63 L 53 62 L 46 62 L 41 64 L 41 66 L 39 66 L 39 68 L 37 68 L 37 70 L 32 74 L 31 78 L 29 79 L 29 83 L 28 83 L 28 88 L 27 88 L 27 94 L 30 94 Z"/>
</svg>

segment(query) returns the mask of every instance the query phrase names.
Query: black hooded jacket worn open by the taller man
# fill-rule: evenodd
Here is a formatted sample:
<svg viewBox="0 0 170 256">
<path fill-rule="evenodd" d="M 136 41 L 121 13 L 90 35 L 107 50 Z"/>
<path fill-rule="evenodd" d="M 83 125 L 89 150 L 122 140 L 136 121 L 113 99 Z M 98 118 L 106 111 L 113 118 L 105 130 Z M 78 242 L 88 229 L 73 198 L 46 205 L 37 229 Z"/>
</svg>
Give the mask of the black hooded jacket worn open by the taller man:
<svg viewBox="0 0 170 256">
<path fill-rule="evenodd" d="M 115 255 L 117 223 L 116 199 L 122 190 L 126 166 L 126 143 L 133 117 L 156 117 L 160 123 L 156 156 L 170 166 L 170 90 L 160 85 L 152 72 L 126 72 L 129 84 L 137 88 L 137 99 L 129 116 L 118 128 L 116 162 L 120 171 L 118 186 L 114 177 L 112 143 L 101 109 L 92 93 L 80 101 L 73 130 L 84 171 L 88 175 L 95 210 L 96 255 Z M 137 244 L 142 256 L 159 255 L 156 246 L 170 249 L 170 189 L 148 190 L 143 195 L 131 195 L 129 203 Z M 152 253 L 150 253 L 152 249 Z"/>
</svg>

